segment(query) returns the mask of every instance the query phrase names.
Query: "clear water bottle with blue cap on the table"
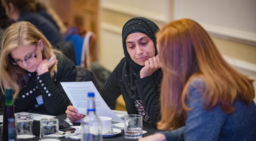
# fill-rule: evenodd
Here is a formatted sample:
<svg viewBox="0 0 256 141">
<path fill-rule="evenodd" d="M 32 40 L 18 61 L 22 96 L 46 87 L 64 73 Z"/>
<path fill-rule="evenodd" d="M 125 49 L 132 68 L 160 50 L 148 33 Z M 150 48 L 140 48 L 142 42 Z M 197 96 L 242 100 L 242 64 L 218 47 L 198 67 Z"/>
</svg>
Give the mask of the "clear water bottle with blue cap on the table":
<svg viewBox="0 0 256 141">
<path fill-rule="evenodd" d="M 94 93 L 88 93 L 87 115 L 81 123 L 81 141 L 102 141 L 102 125 L 95 113 Z"/>
</svg>

